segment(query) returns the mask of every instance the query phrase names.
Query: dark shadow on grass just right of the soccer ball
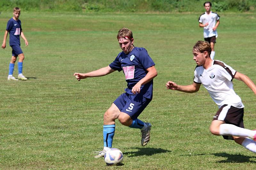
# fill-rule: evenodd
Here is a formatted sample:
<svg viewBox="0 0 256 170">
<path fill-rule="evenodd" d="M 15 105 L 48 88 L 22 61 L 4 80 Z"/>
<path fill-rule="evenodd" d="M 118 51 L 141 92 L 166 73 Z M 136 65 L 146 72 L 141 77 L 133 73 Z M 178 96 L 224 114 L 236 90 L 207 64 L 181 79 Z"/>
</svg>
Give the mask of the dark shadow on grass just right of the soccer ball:
<svg viewBox="0 0 256 170">
<path fill-rule="evenodd" d="M 124 152 L 123 154 L 127 157 L 134 157 L 134 156 L 143 156 L 143 155 L 154 155 L 156 153 L 165 153 L 165 152 L 171 152 L 168 150 L 164 150 L 161 148 L 134 148 L 138 149 L 138 151 L 133 151 L 133 152 Z"/>
</svg>

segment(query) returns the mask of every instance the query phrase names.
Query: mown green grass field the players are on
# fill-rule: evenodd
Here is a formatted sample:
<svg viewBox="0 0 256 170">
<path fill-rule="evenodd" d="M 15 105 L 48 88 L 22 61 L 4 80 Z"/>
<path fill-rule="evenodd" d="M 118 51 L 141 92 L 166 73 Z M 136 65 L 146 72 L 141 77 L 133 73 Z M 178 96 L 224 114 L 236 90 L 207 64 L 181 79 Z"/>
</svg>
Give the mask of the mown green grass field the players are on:
<svg viewBox="0 0 256 170">
<path fill-rule="evenodd" d="M 219 13 L 215 59 L 256 82 L 255 13 Z M 195 94 L 165 89 L 169 80 L 193 82 L 192 47 L 203 39 L 200 13 L 21 13 L 27 81 L 7 81 L 11 47 L 0 50 L 0 169 L 255 169 L 256 155 L 208 128 L 217 106 L 201 86 Z M 12 13 L 0 15 L 1 36 Z M 156 63 L 154 95 L 140 119 L 152 123 L 151 140 L 116 121 L 113 147 L 123 166 L 94 159 L 102 149 L 103 114 L 124 92 L 122 72 L 81 82 L 75 72 L 105 67 L 121 51 L 118 30 L 133 31 Z M 9 36 L 8 36 L 9 39 Z M 2 40 L 2 38 L 1 38 Z M 1 41 L 2 42 L 2 41 Z M 17 77 L 17 64 L 14 69 Z M 255 95 L 241 81 L 234 89 L 245 105 L 246 128 L 255 129 Z"/>
</svg>

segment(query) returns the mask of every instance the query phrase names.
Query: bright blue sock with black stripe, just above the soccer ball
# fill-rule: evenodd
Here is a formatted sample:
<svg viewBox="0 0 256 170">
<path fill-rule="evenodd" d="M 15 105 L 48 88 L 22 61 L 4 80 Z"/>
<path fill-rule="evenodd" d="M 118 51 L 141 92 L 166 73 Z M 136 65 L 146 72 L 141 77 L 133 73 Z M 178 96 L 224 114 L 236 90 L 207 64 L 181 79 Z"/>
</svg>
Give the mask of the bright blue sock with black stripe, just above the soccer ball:
<svg viewBox="0 0 256 170">
<path fill-rule="evenodd" d="M 112 147 L 113 137 L 115 134 L 115 127 L 115 124 L 103 125 L 104 147 Z"/>
</svg>

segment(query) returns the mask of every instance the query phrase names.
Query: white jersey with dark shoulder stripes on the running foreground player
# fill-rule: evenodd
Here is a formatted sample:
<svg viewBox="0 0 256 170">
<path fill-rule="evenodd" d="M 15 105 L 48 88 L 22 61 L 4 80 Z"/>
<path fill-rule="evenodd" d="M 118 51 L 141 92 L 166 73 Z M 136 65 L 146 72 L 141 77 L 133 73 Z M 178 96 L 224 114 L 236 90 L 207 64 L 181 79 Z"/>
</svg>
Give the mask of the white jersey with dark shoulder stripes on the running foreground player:
<svg viewBox="0 0 256 170">
<path fill-rule="evenodd" d="M 241 98 L 236 95 L 233 89 L 232 80 L 236 70 L 232 67 L 222 61 L 213 60 L 212 67 L 207 70 L 203 66 L 196 66 L 194 74 L 194 82 L 203 84 L 219 108 L 224 104 L 236 108 L 244 107 Z"/>
</svg>

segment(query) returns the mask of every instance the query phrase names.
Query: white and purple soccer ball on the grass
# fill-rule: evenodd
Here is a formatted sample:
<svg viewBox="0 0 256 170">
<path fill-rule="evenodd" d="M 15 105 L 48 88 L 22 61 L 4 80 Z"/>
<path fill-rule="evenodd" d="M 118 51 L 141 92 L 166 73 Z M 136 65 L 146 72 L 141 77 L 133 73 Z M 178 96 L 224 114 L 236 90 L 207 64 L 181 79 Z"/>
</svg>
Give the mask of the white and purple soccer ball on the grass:
<svg viewBox="0 0 256 170">
<path fill-rule="evenodd" d="M 121 165 L 123 162 L 123 153 L 116 148 L 109 149 L 104 155 L 104 161 L 107 166 Z"/>
</svg>

